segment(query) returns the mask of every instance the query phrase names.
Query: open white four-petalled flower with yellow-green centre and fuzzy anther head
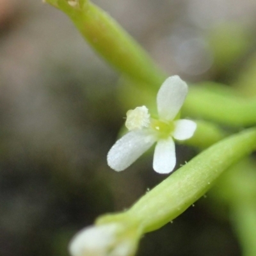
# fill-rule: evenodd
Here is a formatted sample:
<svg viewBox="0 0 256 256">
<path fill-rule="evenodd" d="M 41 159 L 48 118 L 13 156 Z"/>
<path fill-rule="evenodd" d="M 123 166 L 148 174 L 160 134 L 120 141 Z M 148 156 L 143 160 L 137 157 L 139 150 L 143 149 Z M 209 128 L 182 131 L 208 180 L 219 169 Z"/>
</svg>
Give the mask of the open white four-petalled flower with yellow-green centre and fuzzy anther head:
<svg viewBox="0 0 256 256">
<path fill-rule="evenodd" d="M 179 76 L 168 77 L 157 93 L 159 119 L 150 118 L 145 106 L 127 112 L 125 122 L 129 132 L 108 152 L 108 165 L 120 172 L 129 167 L 155 142 L 153 168 L 158 173 L 170 173 L 176 164 L 175 140 L 187 140 L 196 130 L 191 120 L 175 120 L 188 93 L 187 84 Z"/>
</svg>

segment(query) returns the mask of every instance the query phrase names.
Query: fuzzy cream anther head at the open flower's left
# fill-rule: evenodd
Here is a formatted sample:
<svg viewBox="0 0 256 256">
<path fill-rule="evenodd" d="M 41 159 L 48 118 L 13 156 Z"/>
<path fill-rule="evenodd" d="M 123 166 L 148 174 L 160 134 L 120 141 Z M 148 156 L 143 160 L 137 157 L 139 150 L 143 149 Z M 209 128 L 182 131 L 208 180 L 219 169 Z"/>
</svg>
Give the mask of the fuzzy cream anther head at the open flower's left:
<svg viewBox="0 0 256 256">
<path fill-rule="evenodd" d="M 126 113 L 125 126 L 129 131 L 140 130 L 150 125 L 150 114 L 145 106 L 130 109 Z"/>
</svg>

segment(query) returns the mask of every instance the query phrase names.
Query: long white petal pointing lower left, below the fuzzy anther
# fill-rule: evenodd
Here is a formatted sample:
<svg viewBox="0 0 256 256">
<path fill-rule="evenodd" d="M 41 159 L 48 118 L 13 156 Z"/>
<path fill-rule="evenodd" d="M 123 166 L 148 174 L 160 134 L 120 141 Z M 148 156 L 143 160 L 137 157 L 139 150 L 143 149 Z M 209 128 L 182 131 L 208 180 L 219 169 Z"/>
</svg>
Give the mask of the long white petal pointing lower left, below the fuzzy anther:
<svg viewBox="0 0 256 256">
<path fill-rule="evenodd" d="M 108 165 L 116 172 L 129 167 L 156 141 L 148 131 L 131 131 L 125 134 L 108 152 Z"/>
</svg>

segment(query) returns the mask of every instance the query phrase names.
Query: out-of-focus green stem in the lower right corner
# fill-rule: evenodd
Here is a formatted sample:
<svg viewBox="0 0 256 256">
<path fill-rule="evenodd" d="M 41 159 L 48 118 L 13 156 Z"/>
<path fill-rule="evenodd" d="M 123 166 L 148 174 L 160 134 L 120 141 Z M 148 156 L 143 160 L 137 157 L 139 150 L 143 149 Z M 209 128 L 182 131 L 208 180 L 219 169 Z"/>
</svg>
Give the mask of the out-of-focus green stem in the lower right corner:
<svg viewBox="0 0 256 256">
<path fill-rule="evenodd" d="M 246 157 L 225 172 L 213 194 L 217 202 L 224 201 L 229 207 L 243 256 L 256 255 L 255 171 L 255 160 Z"/>
</svg>

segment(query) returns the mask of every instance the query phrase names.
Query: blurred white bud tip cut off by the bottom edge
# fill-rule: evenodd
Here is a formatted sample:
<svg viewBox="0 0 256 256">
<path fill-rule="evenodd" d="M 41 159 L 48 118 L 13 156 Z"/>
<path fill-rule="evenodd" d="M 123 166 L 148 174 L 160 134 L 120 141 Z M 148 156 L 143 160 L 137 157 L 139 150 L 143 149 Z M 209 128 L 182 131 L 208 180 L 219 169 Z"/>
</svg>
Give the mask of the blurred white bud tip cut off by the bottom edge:
<svg viewBox="0 0 256 256">
<path fill-rule="evenodd" d="M 72 239 L 72 256 L 129 256 L 136 250 L 138 237 L 125 236 L 125 230 L 116 223 L 83 228 Z"/>
</svg>

